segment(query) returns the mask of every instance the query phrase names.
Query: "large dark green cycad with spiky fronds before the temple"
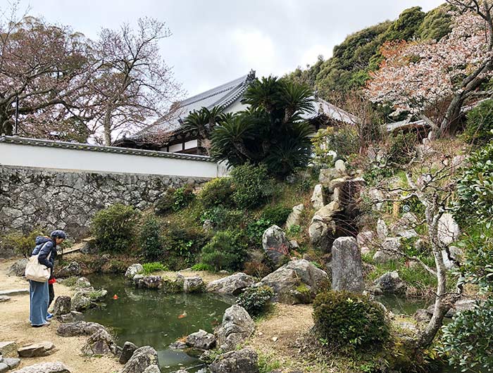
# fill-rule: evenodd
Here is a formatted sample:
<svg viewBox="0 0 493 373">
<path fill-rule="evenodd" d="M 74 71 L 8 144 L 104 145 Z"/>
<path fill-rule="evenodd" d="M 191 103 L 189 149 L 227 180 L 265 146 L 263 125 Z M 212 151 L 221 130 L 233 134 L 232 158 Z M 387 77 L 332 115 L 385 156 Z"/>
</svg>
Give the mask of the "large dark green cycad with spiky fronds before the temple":
<svg viewBox="0 0 493 373">
<path fill-rule="evenodd" d="M 311 130 L 301 115 L 313 110 L 312 96 L 308 87 L 277 77 L 254 80 L 244 94 L 249 109 L 224 115 L 214 129 L 213 158 L 232 166 L 266 163 L 277 176 L 305 166 Z"/>
</svg>

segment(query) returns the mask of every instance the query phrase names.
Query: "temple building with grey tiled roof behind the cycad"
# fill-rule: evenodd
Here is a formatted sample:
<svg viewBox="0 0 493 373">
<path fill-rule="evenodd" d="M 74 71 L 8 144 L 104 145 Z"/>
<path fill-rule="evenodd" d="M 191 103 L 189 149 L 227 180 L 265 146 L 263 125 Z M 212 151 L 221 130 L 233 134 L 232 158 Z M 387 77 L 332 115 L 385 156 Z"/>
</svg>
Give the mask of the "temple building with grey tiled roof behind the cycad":
<svg viewBox="0 0 493 373">
<path fill-rule="evenodd" d="M 218 87 L 180 101 L 178 103 L 179 115 L 177 115 L 177 118 L 158 121 L 147 130 L 144 129 L 130 137 L 118 140 L 115 145 L 125 148 L 143 148 L 171 153 L 204 155 L 206 154 L 206 149 L 201 144 L 198 134 L 195 131 L 184 129 L 182 127 L 183 121 L 189 113 L 204 107 L 210 110 L 218 106 L 222 108 L 223 113 L 237 113 L 240 110 L 244 110 L 247 106 L 242 103 L 243 94 L 254 79 L 255 71 L 251 70 L 248 74 L 231 82 L 221 84 Z M 304 118 L 313 127 L 313 134 L 323 127 L 337 126 L 342 123 L 354 124 L 356 120 L 354 115 L 337 108 L 318 96 L 314 96 L 312 112 L 305 113 Z M 159 138 L 162 140 L 157 142 L 146 141 L 156 133 L 159 133 Z"/>
</svg>

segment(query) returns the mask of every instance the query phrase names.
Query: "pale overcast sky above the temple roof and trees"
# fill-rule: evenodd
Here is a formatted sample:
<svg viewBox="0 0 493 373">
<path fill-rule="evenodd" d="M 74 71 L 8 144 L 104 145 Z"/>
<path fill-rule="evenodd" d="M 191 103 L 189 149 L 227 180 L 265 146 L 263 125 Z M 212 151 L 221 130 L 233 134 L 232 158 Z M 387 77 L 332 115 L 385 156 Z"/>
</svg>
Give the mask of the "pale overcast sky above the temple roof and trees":
<svg viewBox="0 0 493 373">
<path fill-rule="evenodd" d="M 1 8 L 9 0 L 0 0 Z M 254 69 L 282 75 L 328 58 L 344 38 L 411 6 L 429 11 L 444 0 L 21 0 L 30 15 L 95 38 L 101 27 L 135 24 L 150 16 L 173 35 L 161 52 L 187 95 L 197 94 Z"/>
</svg>

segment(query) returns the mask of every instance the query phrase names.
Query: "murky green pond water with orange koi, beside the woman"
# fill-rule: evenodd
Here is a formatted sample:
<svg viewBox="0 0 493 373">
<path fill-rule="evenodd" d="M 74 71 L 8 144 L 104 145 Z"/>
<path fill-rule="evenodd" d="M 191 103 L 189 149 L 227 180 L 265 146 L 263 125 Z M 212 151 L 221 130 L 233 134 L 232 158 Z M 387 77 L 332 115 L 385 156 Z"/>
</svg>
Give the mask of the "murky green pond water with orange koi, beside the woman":
<svg viewBox="0 0 493 373">
<path fill-rule="evenodd" d="M 206 294 L 167 295 L 155 290 L 125 286 L 122 275 L 89 277 L 96 288 L 108 290 L 104 304 L 85 313 L 85 320 L 111 327 L 119 346 L 125 341 L 152 346 L 158 352 L 161 372 L 187 367 L 196 372 L 203 365 L 193 353 L 171 350 L 170 343 L 199 329 L 213 331 L 231 305 Z M 114 295 L 118 299 L 113 299 Z"/>
</svg>

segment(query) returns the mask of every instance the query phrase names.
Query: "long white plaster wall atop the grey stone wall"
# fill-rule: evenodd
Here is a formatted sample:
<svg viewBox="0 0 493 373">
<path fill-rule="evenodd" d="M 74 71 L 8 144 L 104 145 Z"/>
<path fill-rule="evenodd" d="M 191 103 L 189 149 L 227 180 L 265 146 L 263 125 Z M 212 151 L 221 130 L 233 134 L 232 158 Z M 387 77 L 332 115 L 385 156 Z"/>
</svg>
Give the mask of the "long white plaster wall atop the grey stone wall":
<svg viewBox="0 0 493 373">
<path fill-rule="evenodd" d="M 220 168 L 220 174 L 224 172 L 223 167 L 206 160 L 102 153 L 8 143 L 0 143 L 0 165 L 185 177 L 218 177 Z"/>
</svg>

